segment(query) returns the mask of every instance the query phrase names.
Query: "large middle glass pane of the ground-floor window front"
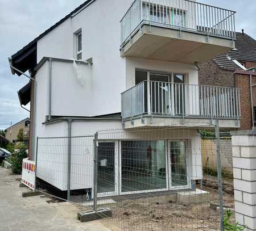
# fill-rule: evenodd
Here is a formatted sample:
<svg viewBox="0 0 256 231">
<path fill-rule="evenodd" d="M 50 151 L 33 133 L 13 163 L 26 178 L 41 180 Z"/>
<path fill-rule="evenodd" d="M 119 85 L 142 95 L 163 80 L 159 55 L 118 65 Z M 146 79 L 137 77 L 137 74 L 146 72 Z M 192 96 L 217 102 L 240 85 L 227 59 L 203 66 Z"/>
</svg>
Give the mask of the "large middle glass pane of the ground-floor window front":
<svg viewBox="0 0 256 231">
<path fill-rule="evenodd" d="M 121 141 L 121 194 L 167 189 L 165 141 Z"/>
</svg>

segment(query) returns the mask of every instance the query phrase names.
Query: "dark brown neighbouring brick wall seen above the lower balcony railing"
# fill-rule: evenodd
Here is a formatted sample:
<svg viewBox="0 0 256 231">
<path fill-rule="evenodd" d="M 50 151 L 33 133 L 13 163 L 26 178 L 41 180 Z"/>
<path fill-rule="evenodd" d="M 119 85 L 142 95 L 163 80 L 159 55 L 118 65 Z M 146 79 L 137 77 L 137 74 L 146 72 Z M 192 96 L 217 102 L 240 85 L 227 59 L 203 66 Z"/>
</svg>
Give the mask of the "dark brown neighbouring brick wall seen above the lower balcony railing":
<svg viewBox="0 0 256 231">
<path fill-rule="evenodd" d="M 234 87 L 234 74 L 232 71 L 222 70 L 212 60 L 200 65 L 199 84 Z"/>
</svg>

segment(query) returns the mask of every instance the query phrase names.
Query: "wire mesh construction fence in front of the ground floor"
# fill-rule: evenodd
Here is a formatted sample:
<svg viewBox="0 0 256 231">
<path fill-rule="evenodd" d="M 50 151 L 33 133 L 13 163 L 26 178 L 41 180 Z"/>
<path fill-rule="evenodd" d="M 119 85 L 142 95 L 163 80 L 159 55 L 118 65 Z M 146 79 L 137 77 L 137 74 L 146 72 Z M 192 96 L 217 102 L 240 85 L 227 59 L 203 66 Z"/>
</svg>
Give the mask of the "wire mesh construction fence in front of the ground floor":
<svg viewBox="0 0 256 231">
<path fill-rule="evenodd" d="M 204 169 L 203 129 L 216 132 L 204 155 L 218 177 Z M 119 230 L 224 230 L 219 144 L 212 124 L 38 137 L 35 190 L 85 211 L 110 208 L 112 217 L 98 214 Z"/>
</svg>

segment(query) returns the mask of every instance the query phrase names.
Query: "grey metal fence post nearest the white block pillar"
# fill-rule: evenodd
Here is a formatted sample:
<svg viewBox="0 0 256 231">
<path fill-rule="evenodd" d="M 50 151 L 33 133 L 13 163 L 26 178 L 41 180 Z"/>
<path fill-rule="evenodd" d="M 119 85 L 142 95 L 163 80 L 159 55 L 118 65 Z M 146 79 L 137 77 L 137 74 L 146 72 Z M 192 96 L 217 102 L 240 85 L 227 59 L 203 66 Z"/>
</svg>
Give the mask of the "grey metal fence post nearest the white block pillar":
<svg viewBox="0 0 256 231">
<path fill-rule="evenodd" d="M 218 199 L 220 202 L 220 227 L 224 231 L 224 209 L 223 209 L 223 191 L 222 191 L 222 173 L 221 173 L 221 152 L 220 152 L 220 129 L 218 127 L 218 120 L 215 124 L 216 136 L 216 153 L 217 153 L 217 171 L 218 171 Z"/>
</svg>

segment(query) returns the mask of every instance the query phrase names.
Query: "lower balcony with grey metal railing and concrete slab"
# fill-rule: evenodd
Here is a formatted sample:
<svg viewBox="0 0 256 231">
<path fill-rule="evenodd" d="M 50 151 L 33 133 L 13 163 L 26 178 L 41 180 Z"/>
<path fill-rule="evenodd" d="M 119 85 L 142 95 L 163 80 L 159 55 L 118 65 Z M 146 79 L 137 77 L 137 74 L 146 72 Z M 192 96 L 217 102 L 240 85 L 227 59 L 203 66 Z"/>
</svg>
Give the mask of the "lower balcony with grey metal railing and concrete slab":
<svg viewBox="0 0 256 231">
<path fill-rule="evenodd" d="M 124 128 L 191 124 L 240 127 L 240 89 L 143 81 L 122 93 Z"/>
</svg>

